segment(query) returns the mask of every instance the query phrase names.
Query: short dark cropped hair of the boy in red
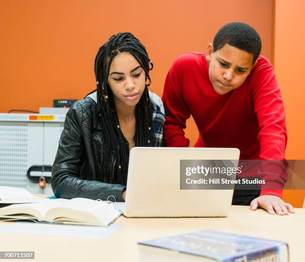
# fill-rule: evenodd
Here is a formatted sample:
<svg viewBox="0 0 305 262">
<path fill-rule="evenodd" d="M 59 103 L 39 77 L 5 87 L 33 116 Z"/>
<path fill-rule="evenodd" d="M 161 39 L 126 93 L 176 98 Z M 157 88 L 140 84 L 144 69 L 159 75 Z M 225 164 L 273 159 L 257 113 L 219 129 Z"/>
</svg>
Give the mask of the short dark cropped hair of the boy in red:
<svg viewBox="0 0 305 262">
<path fill-rule="evenodd" d="M 252 64 L 262 50 L 262 41 L 258 32 L 249 24 L 242 22 L 227 23 L 218 30 L 213 40 L 214 52 L 226 44 L 252 53 Z"/>
</svg>

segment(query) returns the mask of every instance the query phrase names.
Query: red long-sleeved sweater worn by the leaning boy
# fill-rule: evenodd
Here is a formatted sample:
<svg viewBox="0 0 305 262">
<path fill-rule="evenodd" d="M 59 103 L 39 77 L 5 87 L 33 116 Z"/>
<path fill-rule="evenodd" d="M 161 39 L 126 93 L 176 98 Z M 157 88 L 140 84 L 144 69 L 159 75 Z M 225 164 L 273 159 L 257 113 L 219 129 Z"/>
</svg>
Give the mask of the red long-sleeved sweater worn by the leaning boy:
<svg viewBox="0 0 305 262">
<path fill-rule="evenodd" d="M 189 146 L 183 129 L 192 115 L 199 130 L 195 147 L 235 147 L 245 160 L 285 159 L 283 100 L 274 69 L 263 56 L 240 87 L 219 95 L 210 82 L 205 54 L 183 53 L 169 69 L 162 100 L 168 113 L 164 141 L 169 147 Z M 286 179 L 275 183 L 284 186 Z M 261 191 L 267 194 L 282 197 L 282 190 Z"/>
</svg>

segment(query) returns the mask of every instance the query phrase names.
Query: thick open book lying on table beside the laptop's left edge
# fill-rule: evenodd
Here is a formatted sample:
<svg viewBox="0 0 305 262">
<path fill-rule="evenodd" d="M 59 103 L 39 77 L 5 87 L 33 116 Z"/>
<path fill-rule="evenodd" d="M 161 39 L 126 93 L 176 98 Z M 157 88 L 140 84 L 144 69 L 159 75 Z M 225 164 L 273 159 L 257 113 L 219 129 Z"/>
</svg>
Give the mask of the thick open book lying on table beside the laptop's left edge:
<svg viewBox="0 0 305 262">
<path fill-rule="evenodd" d="M 0 218 L 56 224 L 109 226 L 120 216 L 121 212 L 112 202 L 86 198 L 54 199 L 0 208 Z"/>
</svg>

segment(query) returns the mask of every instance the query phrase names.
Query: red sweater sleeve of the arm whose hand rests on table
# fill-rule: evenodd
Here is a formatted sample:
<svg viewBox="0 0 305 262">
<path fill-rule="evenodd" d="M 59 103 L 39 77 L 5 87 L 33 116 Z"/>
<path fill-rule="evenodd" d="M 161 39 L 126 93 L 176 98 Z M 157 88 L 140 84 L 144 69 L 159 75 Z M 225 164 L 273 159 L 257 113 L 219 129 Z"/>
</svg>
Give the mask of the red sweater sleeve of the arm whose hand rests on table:
<svg viewBox="0 0 305 262">
<path fill-rule="evenodd" d="M 260 126 L 258 140 L 260 142 L 260 159 L 262 160 L 285 160 L 285 149 L 287 145 L 287 130 L 285 123 L 285 111 L 283 99 L 275 72 L 271 63 L 264 59 L 258 62 L 254 68 L 250 80 L 250 92 L 252 94 L 254 112 Z M 272 162 L 272 161 L 271 161 Z M 272 165 L 272 172 L 264 172 L 262 178 L 267 181 L 262 186 L 261 195 L 275 195 L 282 198 L 282 190 L 287 181 L 285 164 Z M 283 172 L 284 170 L 284 172 Z"/>
</svg>

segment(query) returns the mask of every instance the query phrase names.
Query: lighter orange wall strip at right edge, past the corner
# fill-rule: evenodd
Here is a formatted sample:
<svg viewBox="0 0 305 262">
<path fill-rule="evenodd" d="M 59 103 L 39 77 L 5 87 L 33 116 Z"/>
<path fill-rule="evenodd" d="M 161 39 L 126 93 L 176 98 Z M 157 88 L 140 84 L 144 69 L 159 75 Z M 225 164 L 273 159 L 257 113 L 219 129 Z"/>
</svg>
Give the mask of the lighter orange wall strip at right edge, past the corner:
<svg viewBox="0 0 305 262">
<path fill-rule="evenodd" d="M 276 0 L 274 66 L 286 110 L 287 159 L 305 159 L 305 1 Z M 302 207 L 305 190 L 286 190 L 284 199 Z"/>
</svg>

